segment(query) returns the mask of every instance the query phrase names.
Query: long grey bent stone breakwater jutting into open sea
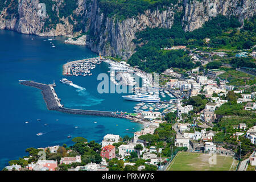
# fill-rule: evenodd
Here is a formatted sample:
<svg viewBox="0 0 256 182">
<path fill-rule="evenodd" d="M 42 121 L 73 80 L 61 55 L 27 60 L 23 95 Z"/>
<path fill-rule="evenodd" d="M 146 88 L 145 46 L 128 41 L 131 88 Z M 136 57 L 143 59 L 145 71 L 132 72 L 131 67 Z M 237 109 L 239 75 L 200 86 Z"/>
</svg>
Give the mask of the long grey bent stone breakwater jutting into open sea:
<svg viewBox="0 0 256 182">
<path fill-rule="evenodd" d="M 48 110 L 56 110 L 56 111 L 69 113 L 69 114 L 99 115 L 103 117 L 125 118 L 125 116 L 123 116 L 122 114 L 114 111 L 82 110 L 82 109 L 70 109 L 70 108 L 63 107 L 63 105 L 60 104 L 60 99 L 57 97 L 57 94 L 53 89 L 53 86 L 55 86 L 55 84 L 47 85 L 47 84 L 42 84 L 39 82 L 28 81 L 28 80 L 22 80 L 20 81 L 20 84 L 26 85 L 26 86 L 32 86 L 34 88 L 38 88 L 42 90 L 43 98 L 44 98 L 44 101 L 46 102 Z"/>
</svg>

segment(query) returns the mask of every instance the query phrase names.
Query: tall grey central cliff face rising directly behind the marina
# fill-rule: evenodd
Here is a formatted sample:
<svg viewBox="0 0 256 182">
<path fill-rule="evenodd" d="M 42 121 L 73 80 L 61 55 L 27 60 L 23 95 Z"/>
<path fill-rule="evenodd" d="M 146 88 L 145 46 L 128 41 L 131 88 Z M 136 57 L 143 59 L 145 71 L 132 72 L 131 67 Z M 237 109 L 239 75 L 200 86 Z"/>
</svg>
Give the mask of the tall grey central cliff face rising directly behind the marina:
<svg viewBox="0 0 256 182">
<path fill-rule="evenodd" d="M 171 28 L 175 10 L 182 10 L 182 6 L 177 7 L 177 5 L 168 7 L 164 11 L 147 10 L 144 14 L 120 22 L 116 18 L 105 17 L 96 1 L 90 7 L 87 14 L 89 19 L 87 28 L 90 30 L 87 45 L 92 51 L 101 52 L 102 55 L 118 55 L 123 59 L 128 59 L 134 53 L 135 44 L 132 40 L 136 32 L 147 27 Z"/>
</svg>

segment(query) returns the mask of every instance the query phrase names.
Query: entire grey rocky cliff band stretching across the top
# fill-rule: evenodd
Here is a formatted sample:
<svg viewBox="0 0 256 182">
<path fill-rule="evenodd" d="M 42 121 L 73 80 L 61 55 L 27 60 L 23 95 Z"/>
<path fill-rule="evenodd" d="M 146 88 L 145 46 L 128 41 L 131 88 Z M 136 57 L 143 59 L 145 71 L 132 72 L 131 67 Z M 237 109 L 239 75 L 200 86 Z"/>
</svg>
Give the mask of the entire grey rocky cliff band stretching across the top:
<svg viewBox="0 0 256 182">
<path fill-rule="evenodd" d="M 179 0 L 165 9 L 120 20 L 102 13 L 98 1 L 6 0 L 0 4 L 0 29 L 39 36 L 75 37 L 87 32 L 86 45 L 92 51 L 129 59 L 136 32 L 146 27 L 171 28 L 177 12 L 183 13 L 184 30 L 192 31 L 218 14 L 235 15 L 242 21 L 255 14 L 256 6 L 256 0 Z"/>
</svg>

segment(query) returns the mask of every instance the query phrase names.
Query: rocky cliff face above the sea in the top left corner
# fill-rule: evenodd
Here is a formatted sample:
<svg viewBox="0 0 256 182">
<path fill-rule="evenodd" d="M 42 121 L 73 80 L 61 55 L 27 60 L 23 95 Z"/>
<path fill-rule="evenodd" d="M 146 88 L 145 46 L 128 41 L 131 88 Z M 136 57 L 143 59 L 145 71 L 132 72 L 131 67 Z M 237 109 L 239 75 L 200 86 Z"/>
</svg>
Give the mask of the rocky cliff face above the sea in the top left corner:
<svg viewBox="0 0 256 182">
<path fill-rule="evenodd" d="M 51 9 L 51 12 L 47 11 L 46 5 L 42 5 L 42 2 L 40 0 L 11 0 L 0 14 L 0 29 L 6 28 L 22 34 L 39 36 L 71 36 L 73 24 L 69 22 L 68 17 L 59 17 L 59 9 L 63 1 L 53 1 L 52 6 L 48 8 L 48 10 Z M 83 7 L 82 3 L 84 1 L 80 0 L 80 8 Z M 53 22 L 52 14 L 57 15 L 58 21 Z"/>
</svg>

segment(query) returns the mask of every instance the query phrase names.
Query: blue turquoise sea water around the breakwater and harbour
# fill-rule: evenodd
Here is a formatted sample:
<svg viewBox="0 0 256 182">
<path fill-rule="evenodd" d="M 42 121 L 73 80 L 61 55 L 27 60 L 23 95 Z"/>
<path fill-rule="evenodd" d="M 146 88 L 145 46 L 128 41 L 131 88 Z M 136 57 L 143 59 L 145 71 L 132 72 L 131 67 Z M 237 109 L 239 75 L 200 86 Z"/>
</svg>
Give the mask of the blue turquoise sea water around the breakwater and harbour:
<svg viewBox="0 0 256 182">
<path fill-rule="evenodd" d="M 7 166 L 9 160 L 27 155 L 25 150 L 28 147 L 63 143 L 71 145 L 73 137 L 100 142 L 108 133 L 123 137 L 132 136 L 134 131 L 141 130 L 142 125 L 127 119 L 49 111 L 39 89 L 20 85 L 18 80 L 34 80 L 45 84 L 51 84 L 55 80 L 55 91 L 65 107 L 133 111 L 137 102 L 123 100 L 123 94 L 97 92 L 100 82 L 97 81 L 98 74 L 109 71 L 106 63 L 97 65 L 92 70 L 92 76 L 66 77 L 77 85 L 75 87 L 61 84 L 59 80 L 64 78 L 63 64 L 97 55 L 85 46 L 64 44 L 65 38 L 57 37 L 52 41 L 48 39 L 0 30 L 0 169 Z M 50 42 L 56 47 L 53 48 Z M 25 123 L 26 121 L 29 123 Z M 75 126 L 79 128 L 76 129 Z M 36 136 L 40 132 L 45 134 Z M 68 135 L 72 135 L 72 138 L 68 139 Z"/>
</svg>

